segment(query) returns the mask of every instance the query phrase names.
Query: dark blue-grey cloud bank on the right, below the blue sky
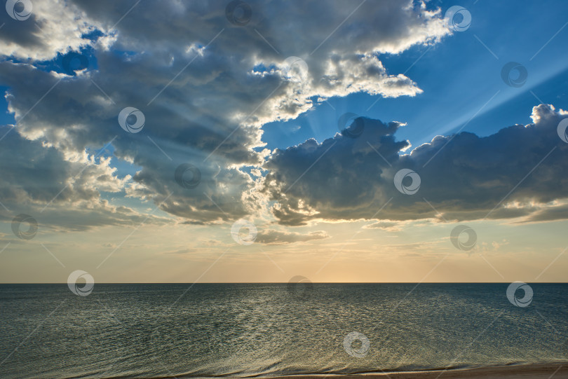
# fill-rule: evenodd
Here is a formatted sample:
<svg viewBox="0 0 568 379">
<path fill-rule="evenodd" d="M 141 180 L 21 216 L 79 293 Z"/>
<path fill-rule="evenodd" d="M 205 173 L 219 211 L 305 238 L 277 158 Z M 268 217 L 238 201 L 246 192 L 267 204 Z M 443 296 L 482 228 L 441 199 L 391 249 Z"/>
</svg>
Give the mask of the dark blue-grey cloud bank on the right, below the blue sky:
<svg viewBox="0 0 568 379">
<path fill-rule="evenodd" d="M 568 198 L 568 145 L 557 135 L 567 115 L 541 104 L 529 125 L 488 137 L 438 136 L 402 156 L 398 151 L 409 142 L 395 139 L 400 123 L 360 118 L 364 131 L 358 138 L 344 132 L 321 144 L 309 139 L 276 150 L 264 165 L 264 192 L 276 201 L 272 212 L 285 225 L 318 219 L 564 219 L 564 207 L 546 204 Z M 416 194 L 395 188 L 402 169 L 419 174 Z"/>
</svg>

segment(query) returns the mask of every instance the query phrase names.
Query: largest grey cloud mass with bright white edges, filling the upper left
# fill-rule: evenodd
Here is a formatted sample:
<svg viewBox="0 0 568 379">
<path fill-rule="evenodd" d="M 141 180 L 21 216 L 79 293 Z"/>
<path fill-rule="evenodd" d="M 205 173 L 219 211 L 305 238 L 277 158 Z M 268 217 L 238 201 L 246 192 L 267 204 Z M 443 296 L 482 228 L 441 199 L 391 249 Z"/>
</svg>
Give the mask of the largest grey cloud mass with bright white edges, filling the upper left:
<svg viewBox="0 0 568 379">
<path fill-rule="evenodd" d="M 12 133 L 55 149 L 63 167 L 110 141 L 116 158 L 137 167 L 129 180 L 113 179 L 105 160 L 79 179 L 72 170 L 51 172 L 55 183 L 69 184 L 58 203 L 123 189 L 188 223 L 261 212 L 262 183 L 245 167 L 261 167 L 269 154 L 262 149 L 264 123 L 354 92 L 414 96 L 418 84 L 388 72 L 379 53 L 431 45 L 449 34 L 439 9 L 410 0 L 367 2 L 356 11 L 356 4 L 339 0 L 252 4 L 245 27 L 226 19 L 226 3 L 54 0 L 34 3 L 26 21 L 3 15 L 0 83 L 17 122 Z M 81 49 L 90 51 L 88 69 L 66 75 L 60 55 Z M 290 63 L 290 56 L 302 60 Z M 136 135 L 117 123 L 126 106 L 146 118 Z M 6 140 L 0 144 L 11 149 Z M 196 188 L 176 184 L 183 163 L 201 170 Z M 40 170 L 38 161 L 29 164 Z M 31 180 L 19 175 L 8 175 L 6 186 Z M 53 191 L 32 185 L 25 193 L 43 201 Z"/>
</svg>

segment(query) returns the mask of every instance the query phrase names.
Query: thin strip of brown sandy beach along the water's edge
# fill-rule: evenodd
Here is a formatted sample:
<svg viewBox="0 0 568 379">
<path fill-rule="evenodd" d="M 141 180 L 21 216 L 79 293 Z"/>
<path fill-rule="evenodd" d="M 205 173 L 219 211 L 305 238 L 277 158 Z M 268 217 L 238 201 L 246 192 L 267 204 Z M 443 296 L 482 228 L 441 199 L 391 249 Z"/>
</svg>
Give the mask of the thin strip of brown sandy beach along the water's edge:
<svg viewBox="0 0 568 379">
<path fill-rule="evenodd" d="M 518 366 L 496 366 L 483 368 L 464 368 L 454 370 L 435 370 L 420 372 L 401 373 L 365 373 L 353 375 L 294 375 L 281 376 L 273 379 L 497 379 L 497 378 L 522 378 L 522 379 L 568 379 L 568 363 L 564 364 L 530 364 Z"/>
</svg>

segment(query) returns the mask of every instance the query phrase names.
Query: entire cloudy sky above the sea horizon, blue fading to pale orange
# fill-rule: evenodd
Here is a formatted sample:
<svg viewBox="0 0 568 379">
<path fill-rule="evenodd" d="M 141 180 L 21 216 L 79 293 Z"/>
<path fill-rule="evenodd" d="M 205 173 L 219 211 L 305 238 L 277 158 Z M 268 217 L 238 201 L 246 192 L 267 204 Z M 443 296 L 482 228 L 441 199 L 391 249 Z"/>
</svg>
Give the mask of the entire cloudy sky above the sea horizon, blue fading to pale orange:
<svg viewBox="0 0 568 379">
<path fill-rule="evenodd" d="M 8 0 L 0 282 L 565 282 L 567 11 Z"/>
</svg>

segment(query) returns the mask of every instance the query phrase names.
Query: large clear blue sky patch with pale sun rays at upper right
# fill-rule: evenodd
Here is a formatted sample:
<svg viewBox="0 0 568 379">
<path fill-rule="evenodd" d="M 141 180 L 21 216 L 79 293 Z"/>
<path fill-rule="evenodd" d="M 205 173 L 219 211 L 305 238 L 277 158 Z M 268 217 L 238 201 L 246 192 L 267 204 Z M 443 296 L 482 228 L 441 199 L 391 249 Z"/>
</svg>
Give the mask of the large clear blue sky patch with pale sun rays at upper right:
<svg viewBox="0 0 568 379">
<path fill-rule="evenodd" d="M 331 106 L 323 102 L 296 120 L 265 125 L 263 141 L 271 149 L 285 149 L 310 137 L 321 142 L 337 132 L 334 126 L 343 113 L 352 112 L 407 123 L 398 137 L 418 146 L 430 142 L 435 135 L 459 130 L 497 91 L 499 94 L 464 131 L 486 136 L 515 123 L 529 123 L 527 109 L 539 104 L 530 90 L 546 104 L 556 104 L 562 109 L 568 107 L 567 30 L 563 29 L 543 48 L 568 21 L 565 17 L 568 4 L 562 1 L 477 1 L 475 4 L 444 1 L 442 8 L 452 5 L 466 6 L 471 12 L 471 26 L 465 32 L 454 33 L 429 49 L 416 46 L 398 55 L 379 55 L 389 73 L 406 72 L 424 90 L 422 94 L 378 101 L 378 96 L 361 93 L 334 97 L 328 100 Z M 555 11 L 545 12 L 545 9 Z M 501 81 L 501 67 L 510 61 L 527 67 L 529 77 L 521 88 L 510 88 Z M 292 132 L 297 125 L 302 128 Z"/>
</svg>

